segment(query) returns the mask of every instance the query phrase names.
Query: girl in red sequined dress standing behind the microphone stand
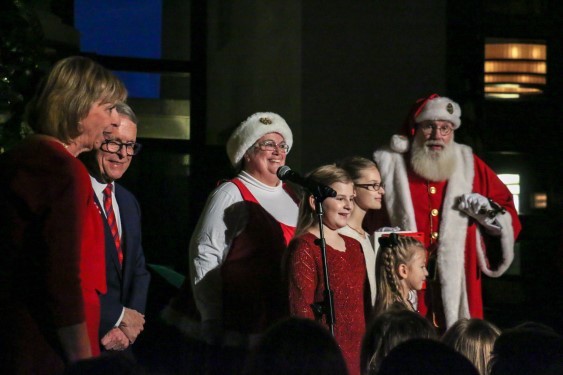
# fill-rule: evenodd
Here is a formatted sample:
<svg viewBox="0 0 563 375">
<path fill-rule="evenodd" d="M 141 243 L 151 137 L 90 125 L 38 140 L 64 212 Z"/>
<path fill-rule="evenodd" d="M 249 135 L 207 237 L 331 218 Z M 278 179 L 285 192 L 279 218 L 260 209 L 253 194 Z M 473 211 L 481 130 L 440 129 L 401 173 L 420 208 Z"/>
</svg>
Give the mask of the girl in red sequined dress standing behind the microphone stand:
<svg viewBox="0 0 563 375">
<path fill-rule="evenodd" d="M 309 178 L 330 186 L 337 193 L 323 203 L 323 233 L 326 241 L 327 268 L 334 304 L 334 337 L 350 374 L 360 373 L 360 343 L 365 332 L 364 304 L 369 298 L 366 267 L 358 241 L 337 232 L 346 225 L 354 206 L 354 184 L 341 168 L 326 165 L 315 169 Z M 293 316 L 315 319 L 313 303 L 324 300 L 324 271 L 315 198 L 306 194 L 301 200 L 296 237 L 289 244 L 286 270 L 289 304 Z M 326 323 L 323 316 L 323 322 Z"/>
</svg>

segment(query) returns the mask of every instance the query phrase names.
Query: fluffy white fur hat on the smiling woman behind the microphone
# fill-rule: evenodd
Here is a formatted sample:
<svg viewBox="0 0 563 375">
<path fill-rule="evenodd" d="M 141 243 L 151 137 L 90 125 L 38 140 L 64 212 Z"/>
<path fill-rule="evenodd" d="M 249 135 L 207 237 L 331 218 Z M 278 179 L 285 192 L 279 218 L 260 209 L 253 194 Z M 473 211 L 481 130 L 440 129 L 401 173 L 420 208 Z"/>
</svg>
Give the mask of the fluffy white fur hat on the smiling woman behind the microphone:
<svg viewBox="0 0 563 375">
<path fill-rule="evenodd" d="M 257 112 L 243 121 L 227 141 L 227 155 L 233 167 L 240 164 L 250 146 L 268 133 L 281 134 L 291 150 L 293 133 L 285 120 L 273 112 Z"/>
</svg>

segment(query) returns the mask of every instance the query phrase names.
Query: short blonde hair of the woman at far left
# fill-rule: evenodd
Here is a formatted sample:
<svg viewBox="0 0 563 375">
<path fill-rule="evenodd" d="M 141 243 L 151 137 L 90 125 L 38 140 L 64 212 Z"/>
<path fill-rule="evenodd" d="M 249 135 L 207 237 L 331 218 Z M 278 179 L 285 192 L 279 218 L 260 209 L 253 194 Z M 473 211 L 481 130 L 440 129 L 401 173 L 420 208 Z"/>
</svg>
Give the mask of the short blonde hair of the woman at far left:
<svg viewBox="0 0 563 375">
<path fill-rule="evenodd" d="M 127 89 L 113 73 L 93 60 L 71 56 L 59 60 L 39 85 L 27 110 L 29 126 L 69 143 L 81 134 L 79 122 L 92 104 L 125 101 Z"/>
</svg>

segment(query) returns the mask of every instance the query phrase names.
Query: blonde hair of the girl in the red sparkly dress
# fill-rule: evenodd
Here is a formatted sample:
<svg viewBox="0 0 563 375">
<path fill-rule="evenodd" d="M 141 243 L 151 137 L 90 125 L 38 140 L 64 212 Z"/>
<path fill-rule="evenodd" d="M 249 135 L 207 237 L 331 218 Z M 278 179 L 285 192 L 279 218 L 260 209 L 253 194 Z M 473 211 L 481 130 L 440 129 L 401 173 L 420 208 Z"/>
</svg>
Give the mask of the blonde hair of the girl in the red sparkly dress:
<svg viewBox="0 0 563 375">
<path fill-rule="evenodd" d="M 352 178 L 348 172 L 337 167 L 335 164 L 320 166 L 308 173 L 307 178 L 326 186 L 330 186 L 336 182 L 344 184 L 352 183 Z M 309 204 L 310 196 L 311 193 L 301 189 L 301 200 L 299 204 L 297 227 L 295 228 L 295 237 L 305 233 L 311 226 L 318 223 L 315 210 Z"/>
</svg>

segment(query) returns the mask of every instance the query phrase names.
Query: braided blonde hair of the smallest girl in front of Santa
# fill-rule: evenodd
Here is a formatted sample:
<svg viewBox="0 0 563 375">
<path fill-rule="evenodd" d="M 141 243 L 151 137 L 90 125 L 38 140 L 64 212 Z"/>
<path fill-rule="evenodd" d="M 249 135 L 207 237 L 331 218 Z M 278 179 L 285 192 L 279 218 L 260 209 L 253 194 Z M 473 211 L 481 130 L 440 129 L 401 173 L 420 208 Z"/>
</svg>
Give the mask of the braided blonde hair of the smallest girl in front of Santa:
<svg viewBox="0 0 563 375">
<path fill-rule="evenodd" d="M 401 293 L 398 268 L 401 264 L 408 264 L 417 250 L 425 250 L 424 245 L 413 237 L 400 236 L 395 233 L 380 242 L 384 243 L 381 245 L 375 261 L 377 297 L 374 313 L 378 315 L 386 311 L 395 302 L 400 302 L 408 309 L 412 309 Z"/>
</svg>

